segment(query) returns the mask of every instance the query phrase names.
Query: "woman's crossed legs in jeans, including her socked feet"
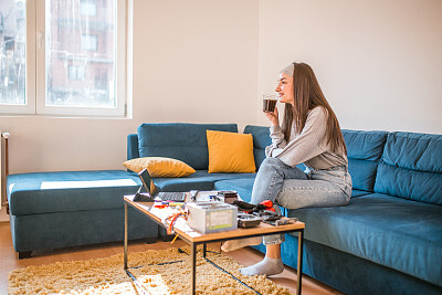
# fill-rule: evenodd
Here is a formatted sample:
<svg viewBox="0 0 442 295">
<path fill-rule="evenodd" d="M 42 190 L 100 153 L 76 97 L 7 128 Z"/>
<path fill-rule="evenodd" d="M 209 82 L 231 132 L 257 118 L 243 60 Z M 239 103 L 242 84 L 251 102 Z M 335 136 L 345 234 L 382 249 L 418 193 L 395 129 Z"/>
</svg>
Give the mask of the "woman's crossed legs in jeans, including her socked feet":
<svg viewBox="0 0 442 295">
<path fill-rule="evenodd" d="M 324 179 L 326 180 L 320 178 L 309 180 L 301 169 L 287 166 L 277 158 L 266 158 L 256 175 L 251 203 L 257 204 L 271 200 L 275 203 L 277 211 L 277 204 L 287 209 L 346 204 L 349 197 L 347 198 L 343 189 L 333 181 L 328 181 L 327 178 Z M 261 241 L 262 238 L 228 241 L 223 244 L 222 250 L 233 251 L 248 245 L 257 245 Z M 274 275 L 283 272 L 281 243 L 284 241 L 284 234 L 264 236 L 265 259 L 255 265 L 241 268 L 241 273 L 244 275 Z"/>
</svg>

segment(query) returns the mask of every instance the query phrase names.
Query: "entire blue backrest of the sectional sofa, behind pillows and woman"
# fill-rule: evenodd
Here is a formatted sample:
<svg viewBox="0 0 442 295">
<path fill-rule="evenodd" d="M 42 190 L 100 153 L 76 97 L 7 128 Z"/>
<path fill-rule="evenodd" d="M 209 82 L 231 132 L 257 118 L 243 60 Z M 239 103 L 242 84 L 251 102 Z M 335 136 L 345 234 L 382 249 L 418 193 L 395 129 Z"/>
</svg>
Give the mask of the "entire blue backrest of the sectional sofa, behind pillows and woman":
<svg viewBox="0 0 442 295">
<path fill-rule="evenodd" d="M 143 124 L 127 137 L 127 159 L 170 157 L 199 170 L 209 165 L 206 130 L 235 124 Z M 256 169 L 271 145 L 266 126 L 248 125 Z M 442 206 L 442 135 L 343 129 L 354 189 Z M 303 168 L 302 168 L 303 169 Z"/>
</svg>

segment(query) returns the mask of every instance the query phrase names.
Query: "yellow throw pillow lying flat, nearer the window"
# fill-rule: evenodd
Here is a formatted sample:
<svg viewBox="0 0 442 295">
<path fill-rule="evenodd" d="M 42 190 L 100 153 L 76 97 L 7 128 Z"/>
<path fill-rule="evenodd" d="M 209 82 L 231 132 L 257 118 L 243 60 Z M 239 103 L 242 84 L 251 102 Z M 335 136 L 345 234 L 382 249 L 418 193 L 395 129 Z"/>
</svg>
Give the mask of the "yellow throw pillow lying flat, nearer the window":
<svg viewBox="0 0 442 295">
<path fill-rule="evenodd" d="M 136 158 L 125 161 L 123 165 L 137 173 L 147 168 L 150 177 L 185 177 L 196 172 L 183 161 L 164 157 Z"/>
</svg>

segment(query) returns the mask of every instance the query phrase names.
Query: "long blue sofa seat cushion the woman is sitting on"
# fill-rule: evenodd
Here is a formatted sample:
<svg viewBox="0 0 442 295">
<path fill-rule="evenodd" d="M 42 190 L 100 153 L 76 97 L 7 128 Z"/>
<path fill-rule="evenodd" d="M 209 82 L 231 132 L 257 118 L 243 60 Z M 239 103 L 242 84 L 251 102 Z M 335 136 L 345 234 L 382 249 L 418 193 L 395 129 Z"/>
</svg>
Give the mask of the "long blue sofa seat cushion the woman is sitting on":
<svg viewBox="0 0 442 295">
<path fill-rule="evenodd" d="M 442 207 L 370 193 L 348 206 L 290 210 L 307 240 L 442 286 Z"/>
</svg>

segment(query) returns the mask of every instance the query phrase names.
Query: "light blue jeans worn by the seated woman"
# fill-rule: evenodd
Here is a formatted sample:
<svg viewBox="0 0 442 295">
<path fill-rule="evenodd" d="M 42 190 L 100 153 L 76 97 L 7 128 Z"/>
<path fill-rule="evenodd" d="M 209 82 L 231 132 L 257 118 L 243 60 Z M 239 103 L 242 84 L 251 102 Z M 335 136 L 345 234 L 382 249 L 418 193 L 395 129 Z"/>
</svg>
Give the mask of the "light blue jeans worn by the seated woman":
<svg viewBox="0 0 442 295">
<path fill-rule="evenodd" d="M 351 177 L 343 167 L 303 172 L 277 158 L 266 158 L 253 185 L 251 203 L 271 200 L 287 209 L 346 206 L 351 197 Z M 281 244 L 284 234 L 266 235 L 265 245 Z"/>
</svg>

